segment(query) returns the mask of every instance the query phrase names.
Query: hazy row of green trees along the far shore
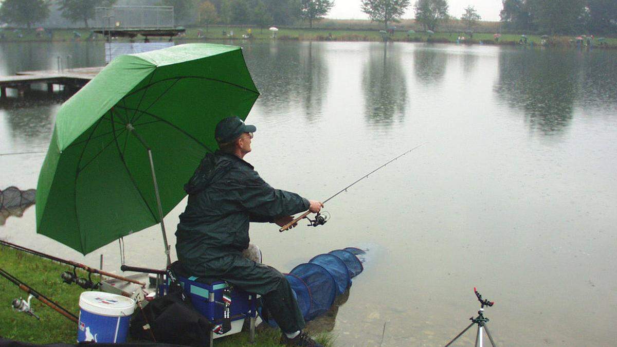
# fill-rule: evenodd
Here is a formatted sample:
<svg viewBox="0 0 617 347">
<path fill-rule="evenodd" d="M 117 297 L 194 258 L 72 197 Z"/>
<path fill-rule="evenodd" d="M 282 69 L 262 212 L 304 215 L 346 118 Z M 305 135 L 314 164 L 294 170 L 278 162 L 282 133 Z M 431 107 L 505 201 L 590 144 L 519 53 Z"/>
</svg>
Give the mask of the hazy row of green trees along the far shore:
<svg viewBox="0 0 617 347">
<path fill-rule="evenodd" d="M 113 6 L 118 0 L 4 0 L 0 2 L 0 21 L 16 25 L 43 22 L 49 6 L 57 4 L 62 17 L 88 27 L 94 9 Z M 160 0 L 158 4 L 173 6 L 176 19 L 205 25 L 271 25 L 309 24 L 323 19 L 335 0 Z M 617 0 L 502 0 L 500 19 L 511 31 L 534 31 L 546 34 L 617 33 Z M 392 23 L 412 7 L 412 0 L 358 0 L 362 12 L 371 21 L 389 30 Z M 453 19 L 447 0 L 416 0 L 415 20 L 424 30 L 436 31 Z M 473 6 L 460 17 L 467 30 L 473 31 L 481 20 Z"/>
</svg>

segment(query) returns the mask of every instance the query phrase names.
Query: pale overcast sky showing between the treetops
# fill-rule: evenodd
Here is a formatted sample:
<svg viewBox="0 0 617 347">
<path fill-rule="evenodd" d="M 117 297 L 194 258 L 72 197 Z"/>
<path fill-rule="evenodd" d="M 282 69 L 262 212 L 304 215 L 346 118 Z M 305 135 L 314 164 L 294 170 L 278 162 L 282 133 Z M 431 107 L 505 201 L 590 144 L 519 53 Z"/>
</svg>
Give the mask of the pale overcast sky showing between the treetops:
<svg viewBox="0 0 617 347">
<path fill-rule="evenodd" d="M 463 10 L 467 6 L 473 6 L 481 15 L 482 20 L 499 20 L 499 11 L 502 9 L 502 0 L 447 0 L 449 4 L 449 14 L 460 18 Z M 360 0 L 334 0 L 334 7 L 330 11 L 328 18 L 336 19 L 368 19 L 366 14 L 360 10 Z M 414 17 L 413 4 L 407 8 L 403 16 L 405 19 Z"/>
</svg>

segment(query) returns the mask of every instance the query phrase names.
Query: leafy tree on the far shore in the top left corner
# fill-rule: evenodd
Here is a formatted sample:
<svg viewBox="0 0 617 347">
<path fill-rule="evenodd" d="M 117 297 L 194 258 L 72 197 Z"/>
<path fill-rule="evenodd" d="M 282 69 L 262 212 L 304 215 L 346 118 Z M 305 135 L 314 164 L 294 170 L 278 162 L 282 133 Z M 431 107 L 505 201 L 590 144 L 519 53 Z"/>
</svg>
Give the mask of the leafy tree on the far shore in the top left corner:
<svg viewBox="0 0 617 347">
<path fill-rule="evenodd" d="M 49 17 L 49 2 L 44 0 L 4 0 L 0 5 L 0 20 L 27 25 L 28 29 Z"/>
</svg>

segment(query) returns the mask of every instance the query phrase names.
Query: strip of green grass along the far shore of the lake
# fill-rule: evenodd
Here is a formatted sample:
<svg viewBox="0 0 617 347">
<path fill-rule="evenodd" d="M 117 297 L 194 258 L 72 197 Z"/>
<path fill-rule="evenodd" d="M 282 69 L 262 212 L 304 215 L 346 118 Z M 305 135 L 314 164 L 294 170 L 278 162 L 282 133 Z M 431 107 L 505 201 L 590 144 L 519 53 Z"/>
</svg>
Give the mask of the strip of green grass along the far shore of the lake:
<svg viewBox="0 0 617 347">
<path fill-rule="evenodd" d="M 251 30 L 252 38 L 247 39 L 244 36 L 248 35 Z M 492 32 L 474 33 L 473 36 L 461 33 L 460 31 L 452 32 L 437 32 L 434 34 L 416 31 L 409 33 L 407 30 L 394 31 L 394 35 L 387 35 L 387 40 L 400 42 L 428 42 L 428 43 L 457 43 L 459 36 L 465 36 L 465 40 L 458 40 L 461 44 L 505 44 L 516 45 L 521 40 L 521 35 L 518 34 L 503 34 L 498 40 L 495 40 Z M 102 41 L 102 35 L 93 34 L 90 30 L 83 29 L 54 29 L 51 31 L 36 31 L 35 29 L 18 29 L 7 30 L 6 28 L 0 31 L 0 42 L 21 42 L 21 41 Z M 129 41 L 127 38 L 117 39 L 118 41 Z M 141 41 L 143 37 L 138 36 L 135 41 Z M 160 38 L 160 41 L 167 38 Z M 267 28 L 254 27 L 228 27 L 228 26 L 213 26 L 205 27 L 190 27 L 186 28 L 186 33 L 178 36 L 173 40 L 182 42 L 185 40 L 203 40 L 203 41 L 220 41 L 220 40 L 275 40 L 272 37 L 272 32 Z M 276 40 L 299 40 L 299 41 L 383 41 L 384 36 L 379 32 L 378 28 L 362 28 L 352 26 L 352 28 L 280 28 L 276 33 Z M 540 35 L 527 35 L 527 43 L 540 46 L 542 44 Z M 547 40 L 547 46 L 555 47 L 578 47 L 579 44 L 574 36 L 551 36 Z M 611 48 L 617 49 L 617 38 L 603 38 L 598 41 L 596 38 L 592 41 L 594 48 Z"/>
</svg>

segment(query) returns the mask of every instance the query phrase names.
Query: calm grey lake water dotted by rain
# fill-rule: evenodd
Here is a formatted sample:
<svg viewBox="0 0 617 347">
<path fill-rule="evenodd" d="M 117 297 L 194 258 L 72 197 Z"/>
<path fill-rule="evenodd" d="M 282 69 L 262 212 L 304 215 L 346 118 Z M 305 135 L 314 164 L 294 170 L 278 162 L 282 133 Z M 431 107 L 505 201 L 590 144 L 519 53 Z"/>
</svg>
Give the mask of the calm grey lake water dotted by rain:
<svg viewBox="0 0 617 347">
<path fill-rule="evenodd" d="M 495 301 L 486 316 L 498 345 L 617 343 L 616 51 L 241 45 L 262 93 L 246 159 L 271 185 L 323 200 L 426 143 L 329 201 L 322 227 L 251 227 L 283 272 L 369 249 L 337 312 L 337 345 L 445 345 L 476 316 L 474 286 Z M 0 75 L 56 69 L 68 55 L 72 67 L 104 61 L 102 43 L 2 43 Z M 46 151 L 62 98 L 45 95 L 0 104 L 0 154 Z M 35 188 L 43 158 L 0 156 L 0 189 Z M 165 219 L 172 245 L 185 204 Z M 117 243 L 83 257 L 36 235 L 34 207 L 0 237 L 94 266 L 104 254 L 119 272 Z M 159 228 L 125 243 L 127 264 L 164 266 Z"/>
</svg>

